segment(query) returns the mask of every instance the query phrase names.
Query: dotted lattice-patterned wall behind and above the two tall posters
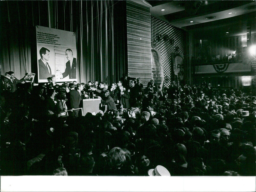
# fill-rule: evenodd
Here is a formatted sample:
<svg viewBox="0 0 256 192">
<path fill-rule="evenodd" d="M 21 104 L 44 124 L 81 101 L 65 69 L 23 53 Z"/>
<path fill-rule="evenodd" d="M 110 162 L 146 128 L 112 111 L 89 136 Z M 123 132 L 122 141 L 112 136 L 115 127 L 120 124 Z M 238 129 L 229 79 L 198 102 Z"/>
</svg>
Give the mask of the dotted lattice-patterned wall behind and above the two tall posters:
<svg viewBox="0 0 256 192">
<path fill-rule="evenodd" d="M 151 46 L 153 49 L 161 51 L 165 77 L 164 86 L 169 87 L 173 78 L 171 53 L 185 55 L 185 32 L 151 16 Z"/>
</svg>

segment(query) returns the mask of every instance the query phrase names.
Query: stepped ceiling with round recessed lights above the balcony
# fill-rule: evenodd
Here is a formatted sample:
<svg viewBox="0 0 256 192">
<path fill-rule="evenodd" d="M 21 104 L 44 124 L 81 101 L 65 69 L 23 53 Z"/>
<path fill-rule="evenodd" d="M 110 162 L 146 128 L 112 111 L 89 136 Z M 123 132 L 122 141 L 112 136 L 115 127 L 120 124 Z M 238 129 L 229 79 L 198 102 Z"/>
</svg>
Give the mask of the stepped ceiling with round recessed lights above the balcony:
<svg viewBox="0 0 256 192">
<path fill-rule="evenodd" d="M 141 1 L 141 4 L 150 7 L 152 16 L 193 31 L 200 38 L 246 35 L 248 27 L 251 33 L 256 32 L 256 1 L 147 0 Z"/>
</svg>

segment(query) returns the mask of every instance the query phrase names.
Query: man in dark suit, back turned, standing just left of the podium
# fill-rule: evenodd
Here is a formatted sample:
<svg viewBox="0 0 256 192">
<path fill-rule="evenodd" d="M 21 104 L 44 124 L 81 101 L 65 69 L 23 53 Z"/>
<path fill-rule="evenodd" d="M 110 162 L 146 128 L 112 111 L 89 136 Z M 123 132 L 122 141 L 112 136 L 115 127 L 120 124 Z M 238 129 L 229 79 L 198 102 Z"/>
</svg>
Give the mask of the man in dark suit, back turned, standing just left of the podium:
<svg viewBox="0 0 256 192">
<path fill-rule="evenodd" d="M 68 95 L 67 95 L 68 110 L 79 108 L 79 104 L 80 104 L 80 101 L 82 100 L 82 97 L 80 93 L 75 89 L 75 85 L 73 83 L 70 83 L 68 86 L 70 88 L 70 92 L 68 92 Z M 78 110 L 68 111 L 68 115 L 71 117 L 78 117 Z"/>
</svg>

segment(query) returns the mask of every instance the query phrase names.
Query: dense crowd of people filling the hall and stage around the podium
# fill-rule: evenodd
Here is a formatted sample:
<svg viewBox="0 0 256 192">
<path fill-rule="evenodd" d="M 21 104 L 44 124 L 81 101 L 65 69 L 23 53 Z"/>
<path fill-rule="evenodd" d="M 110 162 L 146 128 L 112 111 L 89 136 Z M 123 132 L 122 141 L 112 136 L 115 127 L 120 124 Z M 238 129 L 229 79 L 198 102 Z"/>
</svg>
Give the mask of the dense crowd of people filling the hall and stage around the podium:
<svg viewBox="0 0 256 192">
<path fill-rule="evenodd" d="M 255 176 L 256 96 L 211 84 L 1 76 L 1 175 Z M 99 113 L 80 113 L 83 99 Z M 107 107 L 106 107 L 107 106 Z"/>
</svg>

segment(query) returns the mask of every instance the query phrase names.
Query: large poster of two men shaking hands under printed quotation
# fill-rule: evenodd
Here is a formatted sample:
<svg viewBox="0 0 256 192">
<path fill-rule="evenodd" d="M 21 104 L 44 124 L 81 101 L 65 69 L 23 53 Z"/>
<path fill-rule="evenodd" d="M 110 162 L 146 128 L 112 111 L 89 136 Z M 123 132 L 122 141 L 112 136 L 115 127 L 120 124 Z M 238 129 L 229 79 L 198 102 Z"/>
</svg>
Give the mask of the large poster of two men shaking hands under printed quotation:
<svg viewBox="0 0 256 192">
<path fill-rule="evenodd" d="M 38 83 L 77 81 L 76 34 L 36 26 Z"/>
</svg>

